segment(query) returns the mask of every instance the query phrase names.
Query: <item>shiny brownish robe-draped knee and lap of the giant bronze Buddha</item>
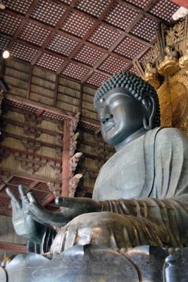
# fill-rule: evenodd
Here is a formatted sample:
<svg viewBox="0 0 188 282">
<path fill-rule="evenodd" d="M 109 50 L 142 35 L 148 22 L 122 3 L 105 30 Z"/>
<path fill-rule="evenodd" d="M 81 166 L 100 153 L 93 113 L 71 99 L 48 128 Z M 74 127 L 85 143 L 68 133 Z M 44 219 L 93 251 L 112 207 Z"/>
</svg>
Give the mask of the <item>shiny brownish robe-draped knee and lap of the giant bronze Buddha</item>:
<svg viewBox="0 0 188 282">
<path fill-rule="evenodd" d="M 112 249 L 138 245 L 165 245 L 163 228 L 143 218 L 113 212 L 82 214 L 59 231 L 51 252 L 63 252 L 73 245 L 96 244 Z"/>
</svg>

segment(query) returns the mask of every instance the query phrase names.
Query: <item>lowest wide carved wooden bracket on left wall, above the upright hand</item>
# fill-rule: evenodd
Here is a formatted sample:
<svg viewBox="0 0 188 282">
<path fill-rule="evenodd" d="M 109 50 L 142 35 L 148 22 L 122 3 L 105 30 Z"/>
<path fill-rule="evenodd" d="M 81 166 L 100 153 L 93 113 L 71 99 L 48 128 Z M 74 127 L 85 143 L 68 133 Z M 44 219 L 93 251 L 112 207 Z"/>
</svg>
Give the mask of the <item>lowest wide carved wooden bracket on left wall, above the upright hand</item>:
<svg viewBox="0 0 188 282">
<path fill-rule="evenodd" d="M 39 168 L 44 166 L 47 162 L 45 158 L 40 158 L 33 156 L 32 154 L 25 154 L 20 152 L 15 152 L 15 159 L 20 161 L 22 168 L 28 174 L 33 174 L 39 171 Z"/>
</svg>

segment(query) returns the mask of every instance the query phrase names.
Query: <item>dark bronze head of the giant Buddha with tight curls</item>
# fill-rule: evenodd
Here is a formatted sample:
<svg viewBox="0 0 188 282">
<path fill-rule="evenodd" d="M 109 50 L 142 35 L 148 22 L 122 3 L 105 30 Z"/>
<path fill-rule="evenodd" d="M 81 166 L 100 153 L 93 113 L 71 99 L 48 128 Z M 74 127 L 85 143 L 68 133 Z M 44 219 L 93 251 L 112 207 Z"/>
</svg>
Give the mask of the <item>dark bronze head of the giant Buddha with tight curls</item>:
<svg viewBox="0 0 188 282">
<path fill-rule="evenodd" d="M 137 75 L 120 72 L 106 80 L 94 97 L 104 141 L 118 147 L 139 131 L 160 125 L 156 90 Z"/>
</svg>

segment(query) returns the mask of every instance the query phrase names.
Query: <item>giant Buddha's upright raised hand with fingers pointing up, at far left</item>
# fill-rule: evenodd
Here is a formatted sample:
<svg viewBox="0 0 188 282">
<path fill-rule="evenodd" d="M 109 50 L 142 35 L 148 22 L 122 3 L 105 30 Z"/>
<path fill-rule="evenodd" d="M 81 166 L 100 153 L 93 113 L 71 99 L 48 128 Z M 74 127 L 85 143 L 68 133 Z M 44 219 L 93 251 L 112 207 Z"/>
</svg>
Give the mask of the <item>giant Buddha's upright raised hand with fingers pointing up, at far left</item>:
<svg viewBox="0 0 188 282">
<path fill-rule="evenodd" d="M 40 244 L 46 230 L 46 226 L 35 221 L 32 214 L 30 214 L 28 209 L 30 202 L 23 192 L 22 185 L 19 185 L 18 190 L 21 200 L 19 200 L 15 193 L 9 188 L 6 189 L 8 196 L 11 197 L 11 206 L 13 210 L 12 222 L 15 233 L 19 236 L 26 237 L 32 243 Z"/>
</svg>

